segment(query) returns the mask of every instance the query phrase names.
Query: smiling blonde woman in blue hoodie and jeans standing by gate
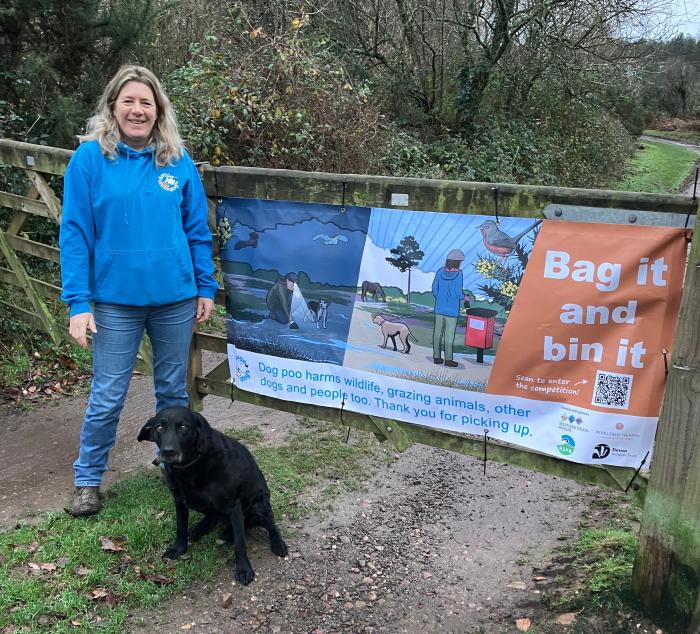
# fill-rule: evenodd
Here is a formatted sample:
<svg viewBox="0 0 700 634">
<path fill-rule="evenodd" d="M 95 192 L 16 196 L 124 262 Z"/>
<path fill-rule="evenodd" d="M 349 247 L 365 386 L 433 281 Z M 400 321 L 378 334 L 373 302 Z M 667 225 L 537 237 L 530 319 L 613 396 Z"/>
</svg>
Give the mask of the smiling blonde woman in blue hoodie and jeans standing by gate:
<svg viewBox="0 0 700 634">
<path fill-rule="evenodd" d="M 209 319 L 218 283 L 204 189 L 153 73 L 119 69 L 79 140 L 64 180 L 61 299 L 71 337 L 86 347 L 93 335 L 92 387 L 73 465 L 73 513 L 93 515 L 144 330 L 156 411 L 187 405 L 194 322 Z"/>
</svg>

